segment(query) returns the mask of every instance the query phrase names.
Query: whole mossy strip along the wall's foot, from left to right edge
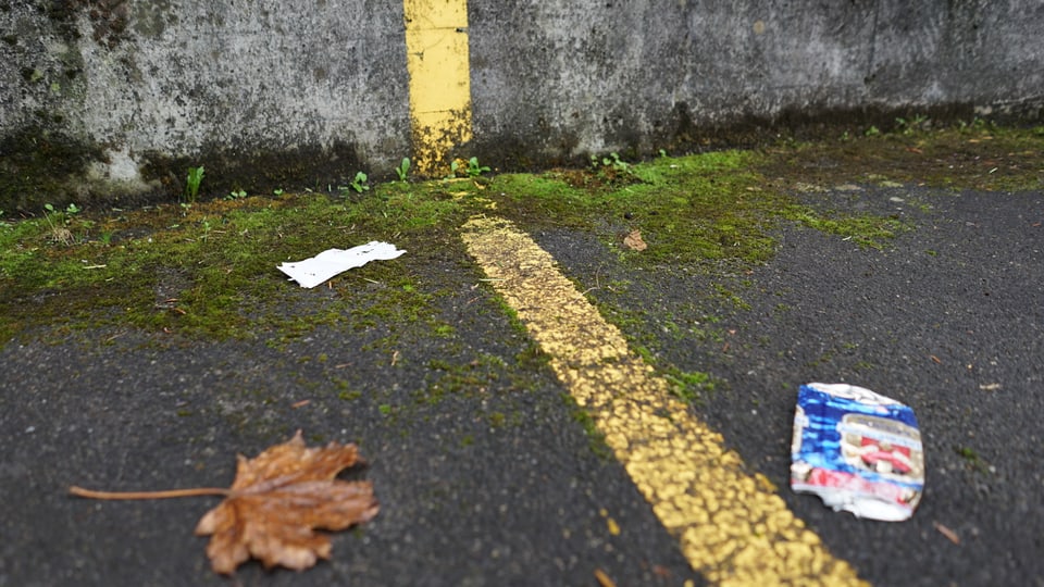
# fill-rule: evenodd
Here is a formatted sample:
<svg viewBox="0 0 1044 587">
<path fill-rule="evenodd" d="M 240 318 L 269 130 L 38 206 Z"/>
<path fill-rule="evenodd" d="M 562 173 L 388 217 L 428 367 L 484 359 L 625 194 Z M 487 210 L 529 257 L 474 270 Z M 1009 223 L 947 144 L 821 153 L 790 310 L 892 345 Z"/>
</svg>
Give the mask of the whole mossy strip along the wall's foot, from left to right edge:
<svg viewBox="0 0 1044 587">
<path fill-rule="evenodd" d="M 304 297 L 275 266 L 370 240 L 469 264 L 460 226 L 490 205 L 525 229 L 589 230 L 634 266 L 749 265 L 771 258 L 784 220 L 869 246 L 906 228 L 892 217 L 801 204 L 794 193 L 803 186 L 1044 187 L 1044 129 L 923 126 L 633 164 L 605 158 L 585 170 L 396 182 L 348 196 L 41 212 L 0 222 L 0 341 L 40 325 L 117 324 L 278 344 L 346 316 L 360 325 L 420 321 L 433 336 L 452 338 L 452 326 L 431 310 L 438 291 L 420 280 L 422 259 L 371 263 L 334 278 L 318 310 L 316 296 Z M 647 249 L 624 243 L 633 230 Z M 307 317 L 288 311 L 304 302 Z"/>
</svg>

